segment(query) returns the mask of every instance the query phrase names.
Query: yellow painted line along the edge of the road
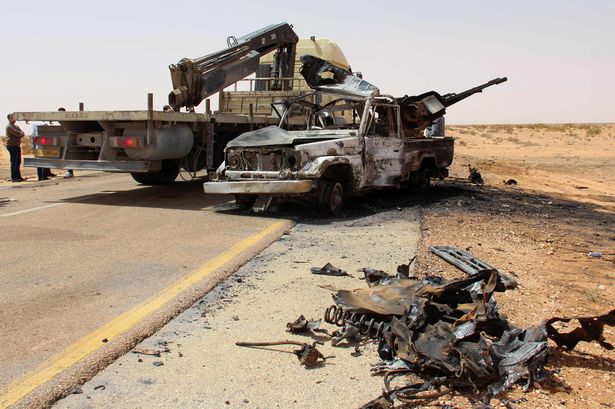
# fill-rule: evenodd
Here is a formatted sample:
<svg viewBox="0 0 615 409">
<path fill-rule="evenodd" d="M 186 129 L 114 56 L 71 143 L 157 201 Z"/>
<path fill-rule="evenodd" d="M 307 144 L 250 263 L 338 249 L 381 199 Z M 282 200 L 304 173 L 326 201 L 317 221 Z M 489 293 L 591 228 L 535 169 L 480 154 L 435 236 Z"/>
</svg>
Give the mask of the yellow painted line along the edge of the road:
<svg viewBox="0 0 615 409">
<path fill-rule="evenodd" d="M 244 251 L 249 250 L 259 244 L 259 242 L 268 235 L 277 230 L 281 230 L 282 228 L 290 227 L 290 223 L 291 222 L 286 220 L 276 221 L 262 229 L 260 232 L 250 237 L 246 237 L 224 253 L 214 257 L 198 270 L 195 270 L 177 280 L 171 286 L 158 293 L 155 297 L 152 297 L 149 300 L 137 305 L 133 309 L 118 315 L 106 325 L 81 338 L 79 341 L 66 348 L 61 354 L 49 360 L 42 369 L 31 374 L 27 374 L 12 382 L 6 388 L 6 392 L 0 395 L 0 407 L 5 408 L 18 402 L 21 398 L 27 396 L 34 389 L 48 382 L 60 372 L 75 365 L 77 362 L 81 361 L 97 349 L 102 348 L 105 345 L 102 342 L 104 338 L 111 341 L 122 335 L 139 321 L 170 302 L 184 290 L 192 287 L 194 284 L 203 280 L 211 273 L 224 267 L 225 264 L 241 255 Z"/>
</svg>

